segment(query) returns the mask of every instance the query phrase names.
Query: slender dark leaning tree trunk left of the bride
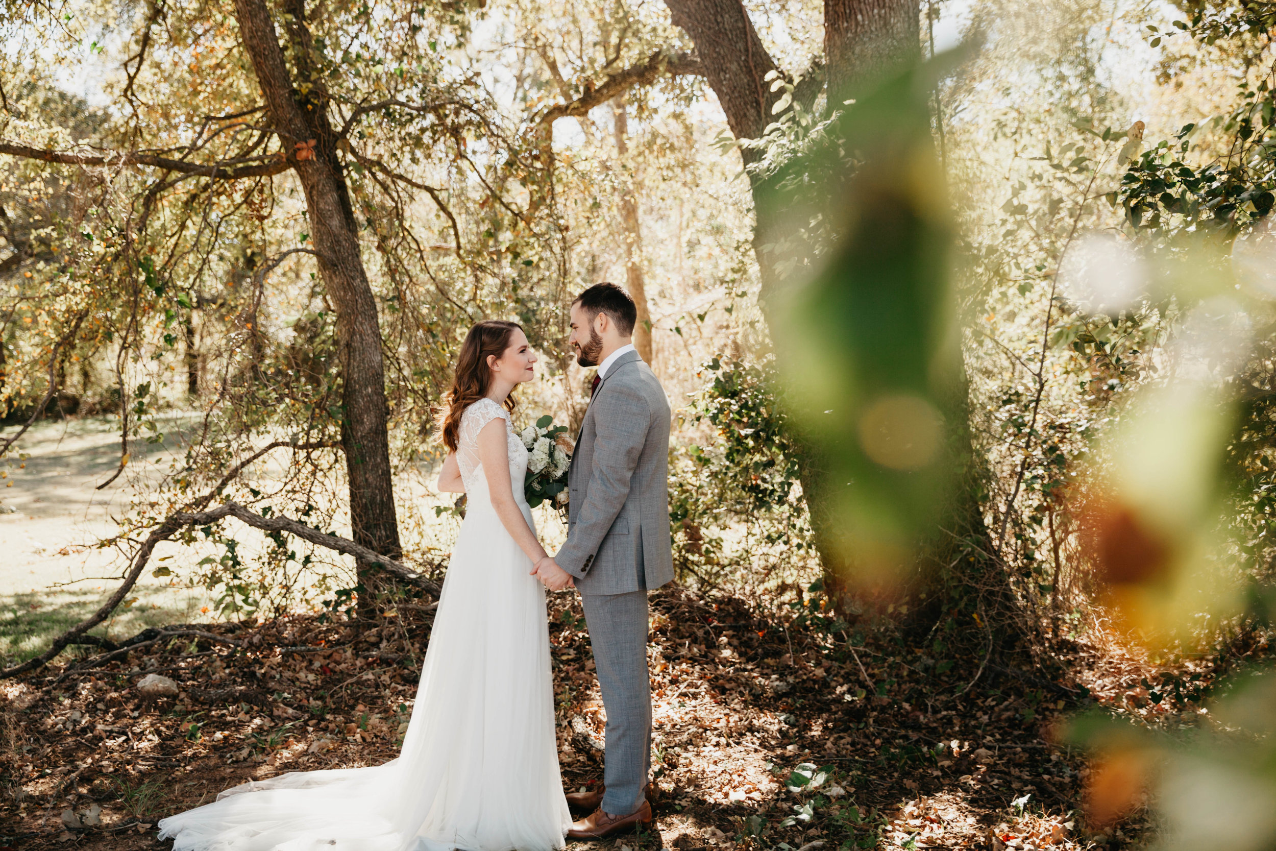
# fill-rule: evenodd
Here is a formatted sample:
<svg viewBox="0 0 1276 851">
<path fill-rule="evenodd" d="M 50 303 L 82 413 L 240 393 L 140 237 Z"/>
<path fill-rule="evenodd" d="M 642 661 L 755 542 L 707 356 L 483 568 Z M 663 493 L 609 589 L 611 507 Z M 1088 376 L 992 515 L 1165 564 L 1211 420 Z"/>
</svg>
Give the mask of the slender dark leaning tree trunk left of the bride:
<svg viewBox="0 0 1276 851">
<path fill-rule="evenodd" d="M 283 61 L 274 22 L 263 0 L 235 0 L 244 48 L 253 61 L 262 94 L 285 147 L 313 140 L 313 156 L 295 153 L 310 218 L 319 269 L 337 313 L 342 378 L 342 448 L 350 480 L 350 519 L 356 544 L 392 559 L 401 554 L 390 476 L 388 406 L 382 362 L 376 300 L 360 254 L 357 223 L 337 158 L 337 134 L 328 122 L 320 80 L 310 73 L 310 33 L 305 9 L 287 4 L 297 78 L 309 85 L 301 94 Z M 360 584 L 369 588 L 369 565 L 359 563 Z M 371 595 L 360 595 L 360 614 L 371 614 Z"/>
</svg>

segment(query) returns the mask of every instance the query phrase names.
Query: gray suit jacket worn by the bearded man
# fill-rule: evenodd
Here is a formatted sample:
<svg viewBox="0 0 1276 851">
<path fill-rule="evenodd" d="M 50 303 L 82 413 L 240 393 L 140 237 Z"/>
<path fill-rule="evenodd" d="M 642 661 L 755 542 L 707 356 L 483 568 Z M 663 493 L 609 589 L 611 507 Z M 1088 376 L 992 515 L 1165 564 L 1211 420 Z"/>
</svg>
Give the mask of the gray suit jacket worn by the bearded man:
<svg viewBox="0 0 1276 851">
<path fill-rule="evenodd" d="M 582 595 L 652 589 L 674 578 L 669 421 L 665 390 L 638 352 L 616 359 L 581 422 L 568 537 L 554 558 Z"/>
</svg>

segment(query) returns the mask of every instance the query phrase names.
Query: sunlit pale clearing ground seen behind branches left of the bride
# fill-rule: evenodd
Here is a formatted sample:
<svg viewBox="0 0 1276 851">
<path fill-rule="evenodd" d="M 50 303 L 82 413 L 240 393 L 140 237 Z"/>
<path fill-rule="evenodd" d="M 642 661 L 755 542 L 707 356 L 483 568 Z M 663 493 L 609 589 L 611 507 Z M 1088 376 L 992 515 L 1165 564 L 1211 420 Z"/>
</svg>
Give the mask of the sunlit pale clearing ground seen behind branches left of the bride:
<svg viewBox="0 0 1276 851">
<path fill-rule="evenodd" d="M 147 487 L 161 478 L 175 455 L 180 455 L 184 429 L 198 422 L 197 415 L 174 412 L 158 420 L 166 431 L 158 444 L 131 441 L 131 461 L 119 478 L 103 490 L 119 464 L 119 433 L 110 417 L 83 417 L 65 421 L 41 421 L 29 429 L 17 448 L 0 459 L 0 666 L 10 665 L 43 651 L 48 640 L 93 612 L 119 586 L 126 564 L 126 552 L 96 549 L 96 541 L 120 532 L 116 521 L 122 517 L 130 499 L 145 495 Z M 0 431 L 13 433 L 14 429 Z M 259 486 L 282 478 L 288 463 L 286 453 L 274 453 L 245 471 Z M 448 521 L 439 521 L 433 510 L 440 498 L 425 487 L 422 471 L 402 471 L 396 481 L 401 500 L 399 521 L 404 546 L 430 549 L 438 556 L 449 541 Z M 334 528 L 348 526 L 336 507 Z M 239 554 L 250 563 L 265 549 L 265 538 L 256 529 L 228 523 L 239 540 Z M 554 523 L 545 524 L 553 538 L 561 536 Z M 345 528 L 348 535 L 348 528 Z M 125 638 L 147 626 L 172 623 L 212 621 L 217 616 L 221 589 L 195 583 L 200 574 L 197 563 L 221 551 L 191 544 L 182 547 L 162 545 L 158 558 L 176 558 L 170 578 L 143 573 L 131 596 L 137 601 L 120 607 L 100 628 L 111 638 Z M 320 552 L 319 569 L 339 579 L 342 570 L 352 578 L 352 564 L 333 560 Z M 333 565 L 336 561 L 336 566 Z M 346 560 L 348 561 L 348 560 Z M 158 561 L 157 561 L 158 564 Z M 316 572 L 292 572 L 293 589 L 320 586 Z M 330 584 L 330 583 L 329 583 Z M 332 587 L 353 584 L 338 582 Z M 327 596 L 320 593 L 319 596 Z M 288 601 L 290 607 L 297 605 Z M 239 616 L 239 615 L 236 615 Z"/>
</svg>

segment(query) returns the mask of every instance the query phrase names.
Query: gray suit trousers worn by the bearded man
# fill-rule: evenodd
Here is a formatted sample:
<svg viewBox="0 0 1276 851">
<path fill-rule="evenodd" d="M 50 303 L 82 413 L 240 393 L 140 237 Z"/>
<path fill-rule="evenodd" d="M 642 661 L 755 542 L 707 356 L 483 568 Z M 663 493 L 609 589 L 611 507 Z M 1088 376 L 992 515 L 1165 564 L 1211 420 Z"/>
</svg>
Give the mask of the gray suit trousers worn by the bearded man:
<svg viewBox="0 0 1276 851">
<path fill-rule="evenodd" d="M 647 592 L 581 595 L 593 663 L 607 711 L 602 811 L 638 811 L 651 772 L 651 675 L 647 671 Z"/>
</svg>

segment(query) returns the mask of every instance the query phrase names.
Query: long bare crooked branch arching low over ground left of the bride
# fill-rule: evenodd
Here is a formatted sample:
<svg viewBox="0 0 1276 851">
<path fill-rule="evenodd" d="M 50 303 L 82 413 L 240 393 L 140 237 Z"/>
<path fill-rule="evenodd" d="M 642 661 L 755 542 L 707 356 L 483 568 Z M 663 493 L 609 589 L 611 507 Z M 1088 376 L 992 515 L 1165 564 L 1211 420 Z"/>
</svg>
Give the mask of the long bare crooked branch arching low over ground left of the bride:
<svg viewBox="0 0 1276 851">
<path fill-rule="evenodd" d="M 14 665 L 11 667 L 0 670 L 0 680 L 9 679 L 19 674 L 26 674 L 27 671 L 33 671 L 37 667 L 47 665 L 55 656 L 61 653 L 63 649 L 65 649 L 70 644 L 87 643 L 87 644 L 101 646 L 102 640 L 105 639 L 98 639 L 97 637 L 87 635 L 88 630 L 93 629 L 94 626 L 105 621 L 107 618 L 110 618 L 111 612 L 115 611 L 116 606 L 119 606 L 124 601 L 125 595 L 128 595 L 129 591 L 133 589 L 133 586 L 137 584 L 138 582 L 138 577 L 142 575 L 142 570 L 145 569 L 147 561 L 151 560 L 151 554 L 154 551 L 156 546 L 161 541 L 167 541 L 174 535 L 176 535 L 177 532 L 180 532 L 186 527 L 209 526 L 212 523 L 217 523 L 221 519 L 225 519 L 226 517 L 234 517 L 244 523 L 248 523 L 254 528 L 259 528 L 265 532 L 287 532 L 290 535 L 293 535 L 299 538 L 302 538 L 304 541 L 309 541 L 318 546 L 323 546 L 329 550 L 336 550 L 337 552 L 343 552 L 346 555 L 352 555 L 356 559 L 371 564 L 373 566 L 380 566 L 387 573 L 390 573 L 398 577 L 399 579 L 410 582 L 411 584 L 416 586 L 417 588 L 421 588 L 422 591 L 434 597 L 438 597 L 443 591 L 438 586 L 438 583 L 430 582 L 421 573 L 412 570 L 411 568 L 396 561 L 394 559 L 389 559 L 378 552 L 373 552 L 367 547 L 360 546 L 359 544 L 355 544 L 353 541 L 339 537 L 337 535 L 320 532 L 316 528 L 311 528 L 309 526 L 305 526 L 304 523 L 299 523 L 297 521 L 290 519 L 287 517 L 262 517 L 260 514 L 250 512 L 242 505 L 239 505 L 236 503 L 226 503 L 225 505 L 219 505 L 218 508 L 207 512 L 176 512 L 165 518 L 165 521 L 160 526 L 157 526 L 154 531 L 151 532 L 151 535 L 147 536 L 147 540 L 143 541 L 142 547 L 138 550 L 137 555 L 133 556 L 133 564 L 129 566 L 129 572 L 125 574 L 124 582 L 120 584 L 119 588 L 115 589 L 115 593 L 112 593 L 111 597 L 105 603 L 102 603 L 102 606 L 96 612 L 93 612 L 91 616 L 85 618 L 79 624 L 71 626 L 69 630 L 55 638 L 52 643 L 48 646 L 48 649 L 41 653 L 40 656 L 34 656 L 27 660 L 26 662 L 22 662 L 20 665 Z M 188 630 L 188 633 L 194 633 L 194 632 L 199 630 Z M 139 635 L 140 634 L 144 633 L 139 633 Z M 219 635 L 213 635 L 213 633 L 203 633 L 202 637 L 208 638 L 209 640 L 235 643 L 231 639 L 222 638 Z M 119 649 L 112 651 L 111 653 L 124 652 L 135 647 L 138 647 L 138 643 L 131 644 L 130 647 L 120 647 Z M 108 653 L 107 656 L 110 656 L 111 653 Z"/>
</svg>

